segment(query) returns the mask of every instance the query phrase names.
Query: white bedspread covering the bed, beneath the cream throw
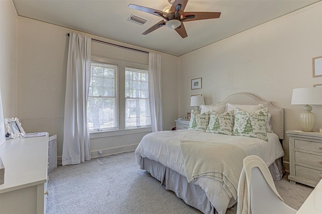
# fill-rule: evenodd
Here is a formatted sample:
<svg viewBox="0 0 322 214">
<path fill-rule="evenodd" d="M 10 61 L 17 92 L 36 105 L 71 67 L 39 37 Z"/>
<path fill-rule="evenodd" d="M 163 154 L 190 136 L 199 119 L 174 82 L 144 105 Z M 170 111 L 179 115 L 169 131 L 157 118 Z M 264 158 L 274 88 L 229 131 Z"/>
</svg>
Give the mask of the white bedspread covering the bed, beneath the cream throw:
<svg viewBox="0 0 322 214">
<path fill-rule="evenodd" d="M 248 155 L 258 155 L 269 166 L 277 158 L 284 156 L 279 138 L 274 133 L 267 133 L 269 141 L 244 136 L 205 133 L 194 130 L 176 130 L 153 132 L 145 135 L 135 150 L 136 161 L 147 157 L 186 176 L 184 158 L 180 149 L 180 141 L 193 140 L 204 142 L 221 142 L 233 144 L 243 149 Z M 205 192 L 218 213 L 225 213 L 230 197 L 222 188 L 222 184 L 214 179 L 199 177 L 193 181 Z"/>
</svg>

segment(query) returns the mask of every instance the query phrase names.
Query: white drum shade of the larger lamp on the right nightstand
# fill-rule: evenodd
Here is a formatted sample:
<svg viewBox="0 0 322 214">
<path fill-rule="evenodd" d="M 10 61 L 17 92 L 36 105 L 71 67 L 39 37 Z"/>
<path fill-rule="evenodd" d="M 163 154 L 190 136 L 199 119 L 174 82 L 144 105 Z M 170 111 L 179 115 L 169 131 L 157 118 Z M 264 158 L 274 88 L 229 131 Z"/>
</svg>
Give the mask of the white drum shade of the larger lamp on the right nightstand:
<svg viewBox="0 0 322 214">
<path fill-rule="evenodd" d="M 322 88 L 293 89 L 291 105 L 322 105 Z"/>
</svg>

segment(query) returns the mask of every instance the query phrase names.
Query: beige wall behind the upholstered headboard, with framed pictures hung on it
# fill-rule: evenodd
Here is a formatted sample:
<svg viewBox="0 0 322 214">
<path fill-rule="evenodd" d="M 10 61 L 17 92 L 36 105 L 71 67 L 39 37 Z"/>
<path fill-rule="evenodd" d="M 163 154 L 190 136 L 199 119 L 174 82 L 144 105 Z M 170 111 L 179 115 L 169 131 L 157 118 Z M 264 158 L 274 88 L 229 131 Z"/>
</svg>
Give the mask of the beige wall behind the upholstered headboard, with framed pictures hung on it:
<svg viewBox="0 0 322 214">
<path fill-rule="evenodd" d="M 205 103 L 249 92 L 285 108 L 285 130 L 300 129 L 302 106 L 291 106 L 293 88 L 321 84 L 312 77 L 313 57 L 322 56 L 322 4 L 286 15 L 179 58 L 179 116 L 191 110 L 190 95 Z M 202 77 L 202 89 L 191 90 L 191 79 Z M 313 106 L 315 129 L 322 126 L 322 106 Z M 283 142 L 288 167 L 288 137 Z"/>
</svg>

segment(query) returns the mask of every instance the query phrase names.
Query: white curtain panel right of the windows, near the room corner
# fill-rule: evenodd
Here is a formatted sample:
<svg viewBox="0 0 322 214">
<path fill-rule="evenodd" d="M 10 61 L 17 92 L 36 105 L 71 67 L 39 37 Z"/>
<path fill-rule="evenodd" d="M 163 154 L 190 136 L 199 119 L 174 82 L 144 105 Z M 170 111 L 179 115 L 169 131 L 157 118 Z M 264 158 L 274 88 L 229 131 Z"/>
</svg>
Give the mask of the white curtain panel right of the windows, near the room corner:
<svg viewBox="0 0 322 214">
<path fill-rule="evenodd" d="M 149 53 L 149 101 L 152 132 L 163 130 L 161 55 Z"/>
</svg>

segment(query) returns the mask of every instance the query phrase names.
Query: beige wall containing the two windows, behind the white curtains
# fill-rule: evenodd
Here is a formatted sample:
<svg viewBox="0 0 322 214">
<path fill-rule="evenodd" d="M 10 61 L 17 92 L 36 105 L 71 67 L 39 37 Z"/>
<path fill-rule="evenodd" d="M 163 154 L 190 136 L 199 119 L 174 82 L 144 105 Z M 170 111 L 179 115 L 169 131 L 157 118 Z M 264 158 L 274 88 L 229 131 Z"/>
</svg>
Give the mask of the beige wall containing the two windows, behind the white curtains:
<svg viewBox="0 0 322 214">
<path fill-rule="evenodd" d="M 26 132 L 48 131 L 57 134 L 58 156 L 62 152 L 63 117 L 68 53 L 67 33 L 71 29 L 18 18 L 18 117 Z M 76 32 L 81 33 L 81 32 Z M 91 38 L 149 51 L 139 47 L 81 33 Z M 126 60 L 147 65 L 146 54 L 92 42 L 92 55 Z M 178 115 L 178 57 L 162 55 L 163 107 L 167 114 L 164 128 L 170 130 Z M 175 92 L 175 93 L 174 93 Z M 122 132 L 122 136 L 101 134 L 91 136 L 92 156 L 103 149 L 104 154 L 131 150 L 146 134 Z"/>
</svg>

